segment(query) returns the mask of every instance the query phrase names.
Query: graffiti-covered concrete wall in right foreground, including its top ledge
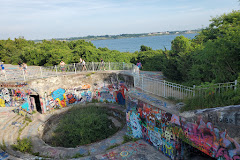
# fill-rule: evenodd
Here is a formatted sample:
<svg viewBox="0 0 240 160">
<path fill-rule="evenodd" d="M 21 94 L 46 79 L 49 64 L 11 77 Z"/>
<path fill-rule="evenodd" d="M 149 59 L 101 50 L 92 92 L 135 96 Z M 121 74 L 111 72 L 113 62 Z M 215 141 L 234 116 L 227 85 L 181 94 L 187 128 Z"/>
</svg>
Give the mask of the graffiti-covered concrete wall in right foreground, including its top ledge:
<svg viewBox="0 0 240 160">
<path fill-rule="evenodd" d="M 145 139 L 171 159 L 183 158 L 186 143 L 219 160 L 240 159 L 240 145 L 226 130 L 226 122 L 231 121 L 235 126 L 238 124 L 236 115 L 238 116 L 240 106 L 236 106 L 233 112 L 228 110 L 222 113 L 221 116 L 216 112 L 219 110 L 220 113 L 221 109 L 180 115 L 164 106 L 164 102 L 154 100 L 144 93 L 129 92 L 126 97 L 127 134 Z M 225 127 L 220 127 L 219 123 L 224 123 Z M 235 129 L 240 131 L 239 126 Z M 238 133 L 235 137 L 239 138 L 239 135 Z"/>
</svg>

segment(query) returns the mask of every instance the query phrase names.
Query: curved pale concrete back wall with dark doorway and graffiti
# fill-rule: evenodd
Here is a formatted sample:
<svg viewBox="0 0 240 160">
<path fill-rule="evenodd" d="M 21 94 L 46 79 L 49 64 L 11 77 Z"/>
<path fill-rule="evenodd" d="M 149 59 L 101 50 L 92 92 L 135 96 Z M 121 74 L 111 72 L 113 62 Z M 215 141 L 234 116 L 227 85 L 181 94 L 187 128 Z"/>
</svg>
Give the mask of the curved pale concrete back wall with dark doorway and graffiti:
<svg viewBox="0 0 240 160">
<path fill-rule="evenodd" d="M 19 107 L 21 114 L 25 115 L 36 110 L 36 103 L 41 106 L 41 113 L 93 100 L 124 105 L 125 92 L 133 87 L 133 78 L 119 72 L 86 72 L 22 84 L 2 83 L 1 87 L 0 107 Z M 38 102 L 31 95 L 37 95 Z"/>
</svg>

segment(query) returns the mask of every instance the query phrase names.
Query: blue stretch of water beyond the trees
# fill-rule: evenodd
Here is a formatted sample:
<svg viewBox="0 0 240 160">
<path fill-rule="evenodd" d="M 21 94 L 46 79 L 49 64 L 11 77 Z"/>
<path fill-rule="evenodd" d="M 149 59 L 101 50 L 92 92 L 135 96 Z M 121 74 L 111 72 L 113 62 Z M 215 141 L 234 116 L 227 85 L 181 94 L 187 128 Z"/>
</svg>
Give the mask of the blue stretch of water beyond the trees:
<svg viewBox="0 0 240 160">
<path fill-rule="evenodd" d="M 141 45 L 151 47 L 153 50 L 157 49 L 171 49 L 171 42 L 177 36 L 183 35 L 187 38 L 194 38 L 197 33 L 194 34 L 178 34 L 178 35 L 162 35 L 152 37 L 139 37 L 139 38 L 124 38 L 124 39 L 107 39 L 107 40 L 95 40 L 91 41 L 94 46 L 107 47 L 110 50 L 118 50 L 120 52 L 135 52 L 140 51 Z"/>
</svg>

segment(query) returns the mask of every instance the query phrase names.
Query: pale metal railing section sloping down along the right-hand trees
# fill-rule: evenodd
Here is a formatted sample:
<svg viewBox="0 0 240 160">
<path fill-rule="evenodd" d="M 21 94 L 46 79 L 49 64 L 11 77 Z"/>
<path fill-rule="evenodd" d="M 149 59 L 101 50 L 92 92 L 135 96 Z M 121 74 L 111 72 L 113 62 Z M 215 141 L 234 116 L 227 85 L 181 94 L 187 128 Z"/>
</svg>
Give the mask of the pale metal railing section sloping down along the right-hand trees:
<svg viewBox="0 0 240 160">
<path fill-rule="evenodd" d="M 159 80 L 149 78 L 144 75 L 134 75 L 134 87 L 160 96 L 163 98 L 184 99 L 194 96 L 205 96 L 209 94 L 221 94 L 227 90 L 236 90 L 237 80 L 234 82 L 218 83 L 209 86 L 193 86 L 188 87 L 177 83 L 168 82 L 166 80 Z"/>
</svg>

